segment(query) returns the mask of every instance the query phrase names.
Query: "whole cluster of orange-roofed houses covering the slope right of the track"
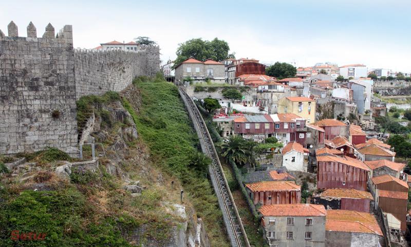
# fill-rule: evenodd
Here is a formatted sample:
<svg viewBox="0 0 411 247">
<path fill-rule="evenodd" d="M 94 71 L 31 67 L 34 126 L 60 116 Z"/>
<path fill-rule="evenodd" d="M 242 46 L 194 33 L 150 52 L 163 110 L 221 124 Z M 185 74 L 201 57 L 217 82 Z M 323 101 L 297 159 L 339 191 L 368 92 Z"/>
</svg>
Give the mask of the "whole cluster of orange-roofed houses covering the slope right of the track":
<svg viewBox="0 0 411 247">
<path fill-rule="evenodd" d="M 175 67 L 180 85 L 247 86 L 237 102 L 217 98 L 224 109 L 214 121 L 223 137 L 259 143 L 275 137 L 283 144 L 261 156 L 264 166 L 243 180 L 269 246 L 405 246 L 411 219 L 405 164 L 395 162 L 390 145 L 364 132 L 373 128 L 373 112 L 385 114 L 373 104 L 367 73 L 363 64 L 326 63 L 279 80 L 248 58 L 189 58 Z M 327 105 L 333 115 L 323 119 Z M 348 120 L 352 116 L 357 125 Z M 313 193 L 307 197 L 302 189 Z"/>
</svg>

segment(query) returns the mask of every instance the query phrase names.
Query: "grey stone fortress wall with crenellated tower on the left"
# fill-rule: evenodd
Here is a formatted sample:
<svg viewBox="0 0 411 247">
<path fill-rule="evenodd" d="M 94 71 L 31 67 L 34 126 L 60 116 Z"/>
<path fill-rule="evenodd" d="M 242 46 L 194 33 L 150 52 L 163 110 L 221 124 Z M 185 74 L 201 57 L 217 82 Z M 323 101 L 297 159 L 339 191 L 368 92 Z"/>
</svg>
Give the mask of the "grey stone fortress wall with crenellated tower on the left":
<svg viewBox="0 0 411 247">
<path fill-rule="evenodd" d="M 74 50 L 72 27 L 41 38 L 35 26 L 18 37 L 17 26 L 0 30 L 0 154 L 57 147 L 77 153 L 76 100 L 119 92 L 136 76 L 159 71 L 159 47 L 141 52 Z"/>
</svg>

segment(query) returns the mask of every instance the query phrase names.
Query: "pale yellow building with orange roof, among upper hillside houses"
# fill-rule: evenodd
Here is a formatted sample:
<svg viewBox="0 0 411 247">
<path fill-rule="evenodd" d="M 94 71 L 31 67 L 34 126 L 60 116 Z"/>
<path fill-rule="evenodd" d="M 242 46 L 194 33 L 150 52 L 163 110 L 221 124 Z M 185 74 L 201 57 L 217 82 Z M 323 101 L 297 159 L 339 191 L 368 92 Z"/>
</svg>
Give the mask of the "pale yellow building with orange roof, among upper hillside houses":
<svg viewBox="0 0 411 247">
<path fill-rule="evenodd" d="M 278 113 L 294 113 L 306 123 L 315 122 L 315 100 L 307 97 L 286 97 L 278 100 Z"/>
</svg>

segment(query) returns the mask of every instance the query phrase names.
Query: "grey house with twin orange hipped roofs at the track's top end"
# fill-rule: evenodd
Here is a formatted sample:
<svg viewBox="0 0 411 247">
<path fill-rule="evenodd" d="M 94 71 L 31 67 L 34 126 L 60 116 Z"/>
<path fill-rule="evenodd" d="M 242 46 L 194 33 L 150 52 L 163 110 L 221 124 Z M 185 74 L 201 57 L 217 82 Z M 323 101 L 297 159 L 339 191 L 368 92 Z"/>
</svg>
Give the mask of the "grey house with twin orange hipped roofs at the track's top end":
<svg viewBox="0 0 411 247">
<path fill-rule="evenodd" d="M 225 83 L 225 66 L 220 62 L 208 59 L 201 62 L 194 58 L 189 58 L 175 67 L 175 81 L 179 84 L 191 78 L 196 82 L 205 82 L 209 79 L 214 83 Z"/>
</svg>

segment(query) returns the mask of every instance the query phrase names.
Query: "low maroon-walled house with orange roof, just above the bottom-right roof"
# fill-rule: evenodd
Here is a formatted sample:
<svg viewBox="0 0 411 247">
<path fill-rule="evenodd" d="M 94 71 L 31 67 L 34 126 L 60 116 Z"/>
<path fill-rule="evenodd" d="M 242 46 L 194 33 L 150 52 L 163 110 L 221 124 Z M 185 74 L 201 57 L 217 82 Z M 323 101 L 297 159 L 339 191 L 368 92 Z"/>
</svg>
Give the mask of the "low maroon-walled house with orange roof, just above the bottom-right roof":
<svg viewBox="0 0 411 247">
<path fill-rule="evenodd" d="M 313 204 L 326 209 L 356 210 L 369 213 L 373 197 L 370 192 L 357 189 L 326 189 L 311 199 Z"/>
</svg>

